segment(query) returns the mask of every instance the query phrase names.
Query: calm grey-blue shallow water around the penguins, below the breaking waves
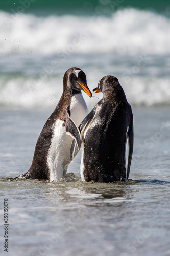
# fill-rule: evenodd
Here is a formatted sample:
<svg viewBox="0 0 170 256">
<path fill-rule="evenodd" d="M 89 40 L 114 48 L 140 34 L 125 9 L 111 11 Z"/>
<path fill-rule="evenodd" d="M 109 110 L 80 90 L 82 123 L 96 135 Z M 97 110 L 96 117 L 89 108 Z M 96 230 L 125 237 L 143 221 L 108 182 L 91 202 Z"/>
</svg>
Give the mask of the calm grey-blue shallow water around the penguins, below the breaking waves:
<svg viewBox="0 0 170 256">
<path fill-rule="evenodd" d="M 5 198 L 10 256 L 170 255 L 169 110 L 133 108 L 130 180 L 103 184 L 79 179 L 80 153 L 58 182 L 9 179 L 28 170 L 52 109 L 0 109 L 1 255 Z"/>
</svg>

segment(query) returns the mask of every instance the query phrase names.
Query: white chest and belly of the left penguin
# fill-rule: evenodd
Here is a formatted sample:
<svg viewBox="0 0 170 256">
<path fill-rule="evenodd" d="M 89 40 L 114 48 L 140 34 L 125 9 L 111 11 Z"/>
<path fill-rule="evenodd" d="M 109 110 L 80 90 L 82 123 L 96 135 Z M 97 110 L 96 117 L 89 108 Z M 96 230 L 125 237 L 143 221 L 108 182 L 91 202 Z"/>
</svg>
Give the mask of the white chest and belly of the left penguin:
<svg viewBox="0 0 170 256">
<path fill-rule="evenodd" d="M 82 94 L 72 96 L 70 104 L 70 118 L 80 125 L 88 114 L 87 105 Z M 48 150 L 47 164 L 50 172 L 50 181 L 62 178 L 66 174 L 67 166 L 70 163 L 70 147 L 72 137 L 66 133 L 64 121 L 57 120 L 54 123 L 54 132 L 51 139 L 51 146 Z"/>
</svg>

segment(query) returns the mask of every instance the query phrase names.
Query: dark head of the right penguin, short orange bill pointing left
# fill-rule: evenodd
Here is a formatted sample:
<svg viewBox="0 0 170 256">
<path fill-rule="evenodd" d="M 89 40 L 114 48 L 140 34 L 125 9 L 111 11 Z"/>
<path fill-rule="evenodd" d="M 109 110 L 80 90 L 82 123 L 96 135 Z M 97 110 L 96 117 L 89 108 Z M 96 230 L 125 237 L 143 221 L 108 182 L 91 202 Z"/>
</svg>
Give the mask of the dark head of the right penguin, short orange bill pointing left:
<svg viewBox="0 0 170 256">
<path fill-rule="evenodd" d="M 110 92 L 110 94 L 124 94 L 122 86 L 120 86 L 118 79 L 115 76 L 104 76 L 98 83 L 98 87 L 93 89 L 95 93 Z"/>
</svg>

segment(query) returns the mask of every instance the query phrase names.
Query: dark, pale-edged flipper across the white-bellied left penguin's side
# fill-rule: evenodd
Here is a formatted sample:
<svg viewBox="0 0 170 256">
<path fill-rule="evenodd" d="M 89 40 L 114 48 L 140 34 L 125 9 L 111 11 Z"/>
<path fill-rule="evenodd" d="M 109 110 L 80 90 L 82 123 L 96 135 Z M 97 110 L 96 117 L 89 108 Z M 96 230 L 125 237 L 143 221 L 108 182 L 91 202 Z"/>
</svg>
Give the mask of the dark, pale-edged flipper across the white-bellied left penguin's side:
<svg viewBox="0 0 170 256">
<path fill-rule="evenodd" d="M 70 135 L 74 141 L 76 141 L 76 144 L 80 150 L 81 147 L 81 133 L 77 125 L 74 121 L 70 118 L 69 112 L 67 112 L 66 115 L 66 121 L 65 121 L 65 131 L 68 135 Z"/>
</svg>

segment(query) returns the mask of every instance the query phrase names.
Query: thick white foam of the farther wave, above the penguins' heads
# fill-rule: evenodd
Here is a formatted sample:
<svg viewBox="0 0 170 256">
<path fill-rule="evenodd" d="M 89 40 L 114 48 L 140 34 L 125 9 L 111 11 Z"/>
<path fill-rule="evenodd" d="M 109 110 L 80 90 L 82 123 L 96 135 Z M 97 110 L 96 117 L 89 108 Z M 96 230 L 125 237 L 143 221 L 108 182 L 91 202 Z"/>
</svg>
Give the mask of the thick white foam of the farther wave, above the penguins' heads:
<svg viewBox="0 0 170 256">
<path fill-rule="evenodd" d="M 2 54 L 170 53 L 169 18 L 150 11 L 124 9 L 111 17 L 0 14 Z"/>
</svg>

